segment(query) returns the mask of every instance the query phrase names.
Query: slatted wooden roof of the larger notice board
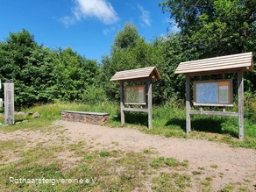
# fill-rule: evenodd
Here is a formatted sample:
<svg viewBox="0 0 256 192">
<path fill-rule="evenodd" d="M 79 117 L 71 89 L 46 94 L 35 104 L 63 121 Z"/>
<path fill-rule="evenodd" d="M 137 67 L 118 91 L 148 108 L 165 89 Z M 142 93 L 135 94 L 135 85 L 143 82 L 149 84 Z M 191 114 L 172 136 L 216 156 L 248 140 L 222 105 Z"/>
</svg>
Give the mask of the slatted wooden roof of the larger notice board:
<svg viewBox="0 0 256 192">
<path fill-rule="evenodd" d="M 175 74 L 198 74 L 210 72 L 229 72 L 234 70 L 253 70 L 252 52 L 231 54 L 204 60 L 181 62 Z"/>
</svg>

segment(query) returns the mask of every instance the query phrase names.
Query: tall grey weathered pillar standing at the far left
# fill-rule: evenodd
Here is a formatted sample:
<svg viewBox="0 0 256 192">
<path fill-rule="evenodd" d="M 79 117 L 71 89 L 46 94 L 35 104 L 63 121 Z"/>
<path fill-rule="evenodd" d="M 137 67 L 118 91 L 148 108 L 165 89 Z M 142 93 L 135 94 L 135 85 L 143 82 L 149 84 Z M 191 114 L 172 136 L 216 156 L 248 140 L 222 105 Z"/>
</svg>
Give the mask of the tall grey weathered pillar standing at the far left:
<svg viewBox="0 0 256 192">
<path fill-rule="evenodd" d="M 13 82 L 4 82 L 4 124 L 14 124 Z"/>
</svg>

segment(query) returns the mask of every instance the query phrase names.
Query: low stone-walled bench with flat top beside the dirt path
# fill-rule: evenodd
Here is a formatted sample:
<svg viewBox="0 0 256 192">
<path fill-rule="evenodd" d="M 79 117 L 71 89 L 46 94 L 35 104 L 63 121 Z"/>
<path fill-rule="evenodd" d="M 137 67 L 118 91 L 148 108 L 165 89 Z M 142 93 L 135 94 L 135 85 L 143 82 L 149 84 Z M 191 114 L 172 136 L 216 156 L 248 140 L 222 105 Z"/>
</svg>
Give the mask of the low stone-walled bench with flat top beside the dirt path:
<svg viewBox="0 0 256 192">
<path fill-rule="evenodd" d="M 83 112 L 75 110 L 62 110 L 61 119 L 64 121 L 82 122 L 87 124 L 106 124 L 110 114 L 98 112 Z"/>
</svg>

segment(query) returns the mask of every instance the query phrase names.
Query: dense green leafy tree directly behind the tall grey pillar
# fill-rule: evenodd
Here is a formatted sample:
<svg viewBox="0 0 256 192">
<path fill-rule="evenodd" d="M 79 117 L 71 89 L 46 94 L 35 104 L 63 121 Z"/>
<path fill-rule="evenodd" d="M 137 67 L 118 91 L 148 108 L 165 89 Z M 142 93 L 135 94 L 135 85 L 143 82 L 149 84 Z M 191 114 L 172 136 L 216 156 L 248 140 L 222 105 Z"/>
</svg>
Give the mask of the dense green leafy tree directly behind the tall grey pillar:
<svg viewBox="0 0 256 192">
<path fill-rule="evenodd" d="M 0 42 L 0 74 L 2 80 L 12 79 L 16 106 L 46 102 L 46 89 L 53 85 L 51 50 L 39 46 L 30 32 L 10 32 Z"/>
</svg>

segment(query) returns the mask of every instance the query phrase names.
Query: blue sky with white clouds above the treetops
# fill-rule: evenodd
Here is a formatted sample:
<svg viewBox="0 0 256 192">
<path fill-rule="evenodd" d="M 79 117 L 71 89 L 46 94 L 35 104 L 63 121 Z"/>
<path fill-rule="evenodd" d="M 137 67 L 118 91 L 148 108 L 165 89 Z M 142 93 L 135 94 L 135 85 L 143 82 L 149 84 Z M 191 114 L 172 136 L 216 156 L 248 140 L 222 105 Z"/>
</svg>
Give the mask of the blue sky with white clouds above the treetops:
<svg viewBox="0 0 256 192">
<path fill-rule="evenodd" d="M 138 27 L 150 41 L 167 34 L 169 14 L 158 0 L 0 0 L 0 40 L 22 28 L 39 44 L 50 48 L 72 47 L 88 59 L 100 61 L 125 22 Z M 176 27 L 170 31 L 176 32 Z"/>
</svg>

